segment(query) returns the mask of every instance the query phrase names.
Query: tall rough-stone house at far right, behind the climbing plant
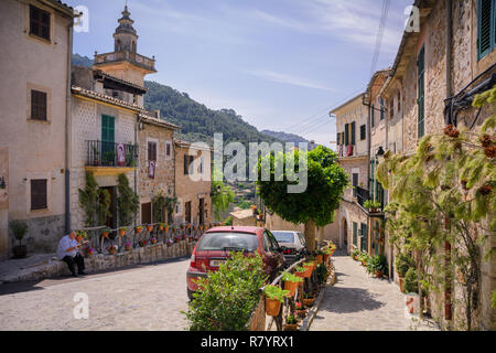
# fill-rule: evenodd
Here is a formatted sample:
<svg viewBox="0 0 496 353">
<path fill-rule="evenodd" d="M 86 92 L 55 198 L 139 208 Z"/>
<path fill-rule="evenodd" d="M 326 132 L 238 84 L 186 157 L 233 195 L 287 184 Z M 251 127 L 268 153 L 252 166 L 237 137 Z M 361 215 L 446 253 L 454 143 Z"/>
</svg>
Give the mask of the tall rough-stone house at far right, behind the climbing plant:
<svg viewBox="0 0 496 353">
<path fill-rule="evenodd" d="M 474 128 L 492 114 L 472 107 L 474 95 L 496 84 L 496 3 L 493 0 L 417 0 L 420 31 L 406 31 L 391 72 L 379 93 L 388 119 L 391 152 L 411 154 L 421 138 L 448 125 Z M 393 142 L 393 143 L 392 143 Z M 401 146 L 401 148 L 400 148 Z M 493 242 L 493 240 L 489 240 Z M 494 242 L 487 246 L 494 246 Z M 444 252 L 440 249 L 440 252 Z M 482 329 L 494 328 L 490 295 L 496 287 L 495 260 L 483 261 Z M 461 306 L 448 292 L 431 296 L 432 314 L 443 324 L 460 324 Z M 448 296 L 448 297 L 445 297 Z M 453 321 L 452 321 L 453 320 Z"/>
</svg>

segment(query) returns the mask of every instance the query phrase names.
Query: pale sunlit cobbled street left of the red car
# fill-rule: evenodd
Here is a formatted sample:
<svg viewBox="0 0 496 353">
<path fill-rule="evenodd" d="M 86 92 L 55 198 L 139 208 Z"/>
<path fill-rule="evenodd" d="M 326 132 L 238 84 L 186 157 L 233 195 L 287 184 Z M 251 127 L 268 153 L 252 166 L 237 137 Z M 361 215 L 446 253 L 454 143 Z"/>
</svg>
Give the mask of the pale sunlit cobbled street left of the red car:
<svg viewBox="0 0 496 353">
<path fill-rule="evenodd" d="M 0 330 L 182 331 L 187 321 L 185 274 L 190 260 L 0 286 Z M 74 319 L 77 292 L 89 298 L 89 318 Z"/>
</svg>

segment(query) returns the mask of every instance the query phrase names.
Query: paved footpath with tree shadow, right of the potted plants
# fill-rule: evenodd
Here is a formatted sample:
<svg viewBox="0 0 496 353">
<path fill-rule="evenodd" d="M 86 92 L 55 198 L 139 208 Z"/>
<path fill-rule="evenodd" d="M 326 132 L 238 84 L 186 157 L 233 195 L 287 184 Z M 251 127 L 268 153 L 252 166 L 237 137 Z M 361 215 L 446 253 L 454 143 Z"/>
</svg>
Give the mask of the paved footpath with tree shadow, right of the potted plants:
<svg viewBox="0 0 496 353">
<path fill-rule="evenodd" d="M 438 331 L 407 313 L 405 295 L 386 279 L 369 276 L 349 256 L 333 256 L 337 280 L 326 287 L 310 331 Z"/>
</svg>

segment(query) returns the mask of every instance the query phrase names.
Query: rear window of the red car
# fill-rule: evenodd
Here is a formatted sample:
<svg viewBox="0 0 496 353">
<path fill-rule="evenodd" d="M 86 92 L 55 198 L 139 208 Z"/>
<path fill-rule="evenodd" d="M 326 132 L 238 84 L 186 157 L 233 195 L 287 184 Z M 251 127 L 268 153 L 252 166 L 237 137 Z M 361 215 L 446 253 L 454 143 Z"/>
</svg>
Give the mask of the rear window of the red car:
<svg viewBox="0 0 496 353">
<path fill-rule="evenodd" d="M 258 248 L 258 238 L 249 233 L 206 233 L 198 242 L 197 252 L 249 252 Z"/>
</svg>

